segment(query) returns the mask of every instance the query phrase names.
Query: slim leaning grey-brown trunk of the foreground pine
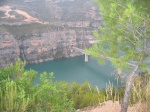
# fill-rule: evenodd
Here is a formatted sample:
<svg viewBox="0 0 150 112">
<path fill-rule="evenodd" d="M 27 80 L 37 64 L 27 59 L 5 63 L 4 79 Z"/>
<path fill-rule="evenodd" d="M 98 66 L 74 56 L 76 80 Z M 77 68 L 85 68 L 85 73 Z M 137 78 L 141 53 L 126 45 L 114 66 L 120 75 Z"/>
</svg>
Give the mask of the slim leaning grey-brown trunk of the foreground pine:
<svg viewBox="0 0 150 112">
<path fill-rule="evenodd" d="M 138 67 L 139 67 L 139 65 L 135 66 L 132 73 L 128 76 L 126 88 L 125 88 L 124 99 L 123 99 L 122 106 L 121 106 L 121 112 L 127 112 L 128 103 L 129 103 L 129 99 L 130 99 L 130 89 L 131 89 L 133 78 L 135 76 L 135 73 L 136 73 Z"/>
</svg>

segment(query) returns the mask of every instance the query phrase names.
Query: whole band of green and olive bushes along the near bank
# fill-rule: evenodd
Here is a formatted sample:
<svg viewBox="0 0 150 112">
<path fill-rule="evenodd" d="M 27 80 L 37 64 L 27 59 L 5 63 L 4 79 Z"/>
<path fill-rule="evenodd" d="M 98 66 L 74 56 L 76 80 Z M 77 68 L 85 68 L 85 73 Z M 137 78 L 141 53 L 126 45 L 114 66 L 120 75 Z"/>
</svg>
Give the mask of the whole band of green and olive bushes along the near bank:
<svg viewBox="0 0 150 112">
<path fill-rule="evenodd" d="M 0 111 L 72 112 L 73 108 L 123 98 L 124 88 L 109 84 L 106 89 L 99 90 L 89 82 L 53 82 L 53 73 L 46 72 L 40 75 L 40 83 L 33 86 L 37 72 L 24 70 L 24 66 L 25 63 L 18 60 L 15 65 L 0 69 Z"/>
</svg>

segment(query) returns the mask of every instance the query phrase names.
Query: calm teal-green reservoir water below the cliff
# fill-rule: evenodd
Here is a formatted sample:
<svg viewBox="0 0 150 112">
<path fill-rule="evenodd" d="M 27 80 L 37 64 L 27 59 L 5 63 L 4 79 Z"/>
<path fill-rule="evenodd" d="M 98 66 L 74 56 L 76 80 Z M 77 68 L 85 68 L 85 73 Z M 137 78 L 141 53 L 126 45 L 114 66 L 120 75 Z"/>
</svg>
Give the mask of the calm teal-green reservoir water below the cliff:
<svg viewBox="0 0 150 112">
<path fill-rule="evenodd" d="M 44 71 L 54 72 L 54 81 L 76 81 L 78 83 L 89 81 L 92 85 L 100 88 L 106 87 L 108 81 L 116 84 L 115 76 L 111 75 L 114 69 L 109 62 L 105 65 L 99 65 L 96 59 L 93 58 L 89 58 L 88 62 L 84 62 L 84 56 L 28 64 L 25 68 L 34 69 L 39 74 Z M 39 74 L 34 84 L 39 83 Z"/>
</svg>

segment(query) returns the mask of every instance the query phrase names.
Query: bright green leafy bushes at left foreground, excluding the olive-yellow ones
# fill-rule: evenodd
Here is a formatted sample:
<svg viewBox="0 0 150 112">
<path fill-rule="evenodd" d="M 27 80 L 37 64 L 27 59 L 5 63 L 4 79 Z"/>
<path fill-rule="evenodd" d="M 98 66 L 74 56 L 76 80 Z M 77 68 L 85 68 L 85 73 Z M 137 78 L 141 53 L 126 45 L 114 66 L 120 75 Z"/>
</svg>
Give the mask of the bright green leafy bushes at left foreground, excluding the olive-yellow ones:
<svg viewBox="0 0 150 112">
<path fill-rule="evenodd" d="M 22 66 L 20 66 L 22 65 Z M 65 85 L 59 87 L 52 81 L 53 73 L 40 75 L 40 83 L 33 86 L 37 72 L 24 70 L 20 60 L 7 69 L 2 69 L 0 76 L 8 77 L 0 81 L 1 112 L 73 112 L 73 102 L 67 98 Z M 6 72 L 5 72 L 6 70 Z M 9 79 L 9 76 L 11 78 Z"/>
</svg>

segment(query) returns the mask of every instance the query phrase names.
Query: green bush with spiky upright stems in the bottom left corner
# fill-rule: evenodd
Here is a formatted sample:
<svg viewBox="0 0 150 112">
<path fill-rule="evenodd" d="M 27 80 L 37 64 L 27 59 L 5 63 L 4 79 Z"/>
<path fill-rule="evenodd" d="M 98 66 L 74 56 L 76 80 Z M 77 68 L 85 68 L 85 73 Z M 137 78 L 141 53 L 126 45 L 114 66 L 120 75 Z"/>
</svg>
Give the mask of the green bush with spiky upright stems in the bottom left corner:
<svg viewBox="0 0 150 112">
<path fill-rule="evenodd" d="M 30 96 L 26 96 L 25 91 L 17 84 L 7 79 L 2 82 L 0 87 L 0 111 L 1 112 L 25 112 L 27 111 Z"/>
</svg>

